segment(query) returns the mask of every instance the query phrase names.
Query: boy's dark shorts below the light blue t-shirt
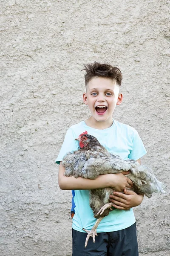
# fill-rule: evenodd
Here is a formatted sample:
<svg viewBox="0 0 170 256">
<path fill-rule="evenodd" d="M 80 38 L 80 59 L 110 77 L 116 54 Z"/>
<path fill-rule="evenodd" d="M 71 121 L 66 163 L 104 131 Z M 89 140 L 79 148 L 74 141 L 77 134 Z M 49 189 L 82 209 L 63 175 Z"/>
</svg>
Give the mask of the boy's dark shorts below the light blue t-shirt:
<svg viewBox="0 0 170 256">
<path fill-rule="evenodd" d="M 85 248 L 87 233 L 72 230 L 73 256 L 139 256 L 136 223 L 123 230 L 97 233 L 96 242 L 92 237 Z"/>
</svg>

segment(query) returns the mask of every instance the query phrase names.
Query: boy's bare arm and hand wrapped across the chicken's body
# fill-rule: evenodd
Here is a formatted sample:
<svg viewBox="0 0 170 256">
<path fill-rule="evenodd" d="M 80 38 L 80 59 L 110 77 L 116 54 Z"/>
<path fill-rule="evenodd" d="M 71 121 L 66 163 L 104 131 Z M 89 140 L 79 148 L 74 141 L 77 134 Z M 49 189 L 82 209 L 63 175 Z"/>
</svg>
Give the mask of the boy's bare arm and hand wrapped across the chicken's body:
<svg viewBox="0 0 170 256">
<path fill-rule="evenodd" d="M 105 174 L 99 175 L 96 179 L 90 180 L 82 177 L 65 177 L 64 167 L 62 166 L 62 161 L 59 164 L 59 175 L 58 183 L 60 189 L 65 190 L 88 190 L 88 189 L 99 189 L 105 187 L 113 187 L 116 191 L 122 191 L 125 187 L 131 188 L 133 182 L 124 176 L 129 172 L 122 172 L 119 174 Z"/>
</svg>

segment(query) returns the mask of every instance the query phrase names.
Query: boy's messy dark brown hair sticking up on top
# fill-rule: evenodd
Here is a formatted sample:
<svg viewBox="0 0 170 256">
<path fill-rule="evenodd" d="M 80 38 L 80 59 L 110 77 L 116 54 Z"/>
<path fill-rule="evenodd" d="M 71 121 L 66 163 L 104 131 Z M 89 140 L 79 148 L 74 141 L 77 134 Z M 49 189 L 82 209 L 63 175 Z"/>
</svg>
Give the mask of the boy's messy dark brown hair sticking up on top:
<svg viewBox="0 0 170 256">
<path fill-rule="evenodd" d="M 101 64 L 99 62 L 84 64 L 85 70 L 85 86 L 94 77 L 105 77 L 116 81 L 119 86 L 122 82 L 122 73 L 118 67 L 111 66 L 110 64 Z"/>
</svg>

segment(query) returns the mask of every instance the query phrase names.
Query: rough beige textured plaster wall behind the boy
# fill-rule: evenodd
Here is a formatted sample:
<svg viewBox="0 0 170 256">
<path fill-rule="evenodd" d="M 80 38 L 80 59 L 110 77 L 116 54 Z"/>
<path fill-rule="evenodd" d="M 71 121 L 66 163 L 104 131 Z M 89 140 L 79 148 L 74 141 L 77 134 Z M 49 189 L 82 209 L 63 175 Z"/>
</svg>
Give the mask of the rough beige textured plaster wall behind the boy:
<svg viewBox="0 0 170 256">
<path fill-rule="evenodd" d="M 1 1 L 0 255 L 71 255 L 71 192 L 54 160 L 89 115 L 80 70 L 95 60 L 121 68 L 113 116 L 139 131 L 142 162 L 168 186 L 135 209 L 140 256 L 168 255 L 169 19 L 169 0 Z"/>
</svg>

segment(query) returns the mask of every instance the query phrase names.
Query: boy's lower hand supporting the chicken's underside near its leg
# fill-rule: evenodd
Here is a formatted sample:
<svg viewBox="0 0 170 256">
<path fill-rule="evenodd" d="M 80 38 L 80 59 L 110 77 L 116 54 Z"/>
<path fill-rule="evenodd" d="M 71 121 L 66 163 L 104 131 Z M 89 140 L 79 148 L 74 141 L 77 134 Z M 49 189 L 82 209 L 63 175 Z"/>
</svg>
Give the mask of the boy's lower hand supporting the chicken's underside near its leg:
<svg viewBox="0 0 170 256">
<path fill-rule="evenodd" d="M 124 189 L 124 194 L 121 192 L 113 192 L 110 195 L 110 201 L 114 204 L 113 207 L 121 210 L 128 210 L 138 206 L 143 201 L 143 195 L 138 195 L 131 190 Z"/>
</svg>

